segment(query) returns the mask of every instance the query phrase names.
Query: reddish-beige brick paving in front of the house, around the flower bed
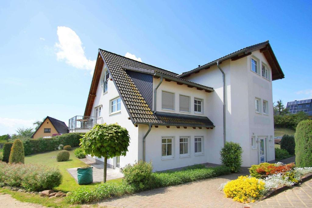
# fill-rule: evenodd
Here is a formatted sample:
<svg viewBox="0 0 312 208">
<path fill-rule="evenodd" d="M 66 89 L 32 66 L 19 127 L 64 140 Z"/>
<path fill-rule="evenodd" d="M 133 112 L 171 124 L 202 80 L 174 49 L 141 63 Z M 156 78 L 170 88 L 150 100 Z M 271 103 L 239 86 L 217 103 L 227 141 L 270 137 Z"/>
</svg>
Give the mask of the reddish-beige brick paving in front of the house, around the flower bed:
<svg viewBox="0 0 312 208">
<path fill-rule="evenodd" d="M 240 175 L 230 174 L 178 186 L 142 191 L 131 196 L 105 200 L 98 205 L 107 207 L 312 207 L 312 179 L 249 205 L 226 198 L 223 191 L 218 191 L 220 184 L 236 179 Z"/>
</svg>

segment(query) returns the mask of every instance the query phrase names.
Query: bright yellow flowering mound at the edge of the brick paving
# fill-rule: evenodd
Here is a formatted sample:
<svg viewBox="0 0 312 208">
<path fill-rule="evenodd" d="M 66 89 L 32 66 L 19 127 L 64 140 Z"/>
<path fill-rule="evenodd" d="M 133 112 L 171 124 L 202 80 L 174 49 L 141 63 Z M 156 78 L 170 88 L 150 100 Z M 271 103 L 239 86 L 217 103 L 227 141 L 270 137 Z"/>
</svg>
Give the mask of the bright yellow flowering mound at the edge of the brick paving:
<svg viewBox="0 0 312 208">
<path fill-rule="evenodd" d="M 239 202 L 254 202 L 262 196 L 265 183 L 255 177 L 239 176 L 229 181 L 223 188 L 225 195 Z"/>
</svg>

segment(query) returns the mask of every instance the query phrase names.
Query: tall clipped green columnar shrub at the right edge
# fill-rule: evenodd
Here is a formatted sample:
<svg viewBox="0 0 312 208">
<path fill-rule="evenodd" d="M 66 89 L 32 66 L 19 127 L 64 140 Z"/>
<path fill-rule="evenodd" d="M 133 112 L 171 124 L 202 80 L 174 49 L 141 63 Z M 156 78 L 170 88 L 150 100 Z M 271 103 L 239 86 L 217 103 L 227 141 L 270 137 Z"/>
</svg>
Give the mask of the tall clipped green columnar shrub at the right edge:
<svg viewBox="0 0 312 208">
<path fill-rule="evenodd" d="M 312 166 L 312 120 L 301 121 L 295 133 L 297 167 Z"/>
</svg>

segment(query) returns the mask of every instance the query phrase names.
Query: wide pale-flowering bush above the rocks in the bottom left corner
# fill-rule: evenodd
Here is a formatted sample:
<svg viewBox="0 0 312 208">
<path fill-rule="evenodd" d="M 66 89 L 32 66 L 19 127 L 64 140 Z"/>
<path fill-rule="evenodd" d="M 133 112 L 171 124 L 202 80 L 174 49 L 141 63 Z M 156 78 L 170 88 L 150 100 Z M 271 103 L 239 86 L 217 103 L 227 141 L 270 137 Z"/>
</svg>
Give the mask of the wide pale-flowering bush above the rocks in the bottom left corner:
<svg viewBox="0 0 312 208">
<path fill-rule="evenodd" d="M 62 175 L 55 167 L 0 162 L 0 184 L 21 186 L 27 191 L 44 191 L 59 186 Z"/>
</svg>

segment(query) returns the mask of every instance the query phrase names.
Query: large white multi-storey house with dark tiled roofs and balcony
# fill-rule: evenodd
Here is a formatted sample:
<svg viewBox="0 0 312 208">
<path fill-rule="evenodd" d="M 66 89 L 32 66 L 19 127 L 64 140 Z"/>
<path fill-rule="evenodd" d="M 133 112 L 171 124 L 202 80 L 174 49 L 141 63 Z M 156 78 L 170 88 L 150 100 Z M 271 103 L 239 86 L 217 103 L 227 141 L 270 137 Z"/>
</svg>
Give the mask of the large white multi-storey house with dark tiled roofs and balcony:
<svg viewBox="0 0 312 208">
<path fill-rule="evenodd" d="M 129 152 L 109 159 L 113 168 L 138 160 L 152 161 L 154 171 L 220 164 L 225 141 L 240 143 L 242 165 L 251 166 L 275 159 L 272 80 L 282 78 L 269 41 L 180 75 L 99 49 L 85 114 L 70 119 L 70 129 L 127 128 Z"/>
</svg>

